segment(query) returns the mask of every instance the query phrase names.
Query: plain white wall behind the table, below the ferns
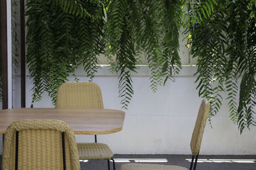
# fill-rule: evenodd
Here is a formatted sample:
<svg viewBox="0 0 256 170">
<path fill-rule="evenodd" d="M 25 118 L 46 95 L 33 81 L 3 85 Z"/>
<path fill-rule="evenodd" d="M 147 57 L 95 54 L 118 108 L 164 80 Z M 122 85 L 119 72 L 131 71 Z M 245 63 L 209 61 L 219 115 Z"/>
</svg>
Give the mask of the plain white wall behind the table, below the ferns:
<svg viewBox="0 0 256 170">
<path fill-rule="evenodd" d="M 94 82 L 102 90 L 104 107 L 120 110 L 118 77 L 109 74 L 107 70 L 104 67 L 94 78 Z M 132 76 L 134 96 L 128 110 L 125 110 L 123 130 L 98 136 L 98 141 L 107 143 L 114 153 L 190 154 L 190 138 L 201 103 L 198 91 L 195 90 L 195 71 L 196 67 L 183 67 L 174 82 L 169 81 L 154 93 L 150 91 L 148 69 L 141 67 L 138 74 Z M 77 75 L 81 81 L 87 80 L 81 70 L 77 71 Z M 33 87 L 29 74 L 26 83 L 26 106 L 29 107 L 32 94 L 30 90 Z M 16 94 L 20 94 L 19 74 L 16 85 Z M 15 100 L 14 105 L 20 107 L 20 96 Z M 53 107 L 47 94 L 34 106 Z M 90 141 L 93 141 L 93 136 L 77 136 L 77 142 Z M 207 122 L 200 153 L 256 154 L 256 128 L 251 127 L 251 131 L 245 130 L 240 135 L 237 125 L 230 122 L 227 102 L 223 101 L 220 113 L 212 118 L 212 128 Z"/>
</svg>

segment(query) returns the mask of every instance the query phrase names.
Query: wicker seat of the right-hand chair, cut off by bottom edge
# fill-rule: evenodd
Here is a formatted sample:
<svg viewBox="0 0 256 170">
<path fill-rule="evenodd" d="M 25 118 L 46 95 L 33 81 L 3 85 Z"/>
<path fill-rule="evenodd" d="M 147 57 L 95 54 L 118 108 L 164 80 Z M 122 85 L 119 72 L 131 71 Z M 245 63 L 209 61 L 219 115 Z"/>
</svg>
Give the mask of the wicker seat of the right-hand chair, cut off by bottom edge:
<svg viewBox="0 0 256 170">
<path fill-rule="evenodd" d="M 169 166 L 159 164 L 122 164 L 119 170 L 188 170 L 182 166 Z"/>
</svg>

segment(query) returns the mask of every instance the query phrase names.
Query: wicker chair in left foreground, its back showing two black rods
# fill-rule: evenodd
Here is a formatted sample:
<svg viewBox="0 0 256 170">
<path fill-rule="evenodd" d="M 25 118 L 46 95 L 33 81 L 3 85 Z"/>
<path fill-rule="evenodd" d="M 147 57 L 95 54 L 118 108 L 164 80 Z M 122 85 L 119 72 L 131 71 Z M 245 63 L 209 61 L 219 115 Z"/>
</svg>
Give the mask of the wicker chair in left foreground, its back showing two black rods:
<svg viewBox="0 0 256 170">
<path fill-rule="evenodd" d="M 59 120 L 19 120 L 4 134 L 3 170 L 79 170 L 74 132 Z"/>
</svg>

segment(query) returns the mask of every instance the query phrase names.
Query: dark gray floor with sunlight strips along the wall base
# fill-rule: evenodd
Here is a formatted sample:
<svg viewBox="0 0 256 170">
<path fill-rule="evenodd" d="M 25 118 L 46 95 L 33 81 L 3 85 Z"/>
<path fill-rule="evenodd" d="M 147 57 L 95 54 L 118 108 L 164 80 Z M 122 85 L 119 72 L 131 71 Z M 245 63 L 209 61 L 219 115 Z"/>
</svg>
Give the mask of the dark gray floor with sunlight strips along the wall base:
<svg viewBox="0 0 256 170">
<path fill-rule="evenodd" d="M 127 162 L 152 162 L 189 167 L 191 155 L 115 155 L 116 170 Z M 1 159 L 0 159 L 1 160 Z M 0 161 L 1 162 L 1 161 Z M 1 165 L 1 164 L 0 164 Z M 111 162 L 112 167 L 112 162 Z M 107 160 L 81 160 L 82 170 L 107 170 Z M 256 155 L 200 155 L 197 170 L 256 170 Z"/>
</svg>

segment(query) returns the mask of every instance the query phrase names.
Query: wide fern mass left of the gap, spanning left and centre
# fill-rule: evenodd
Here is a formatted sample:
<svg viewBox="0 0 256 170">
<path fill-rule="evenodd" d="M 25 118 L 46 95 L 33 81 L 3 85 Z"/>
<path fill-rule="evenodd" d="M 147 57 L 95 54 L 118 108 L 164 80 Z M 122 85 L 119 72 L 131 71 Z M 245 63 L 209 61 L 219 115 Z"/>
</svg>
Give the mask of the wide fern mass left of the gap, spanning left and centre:
<svg viewBox="0 0 256 170">
<path fill-rule="evenodd" d="M 108 57 L 111 70 L 120 75 L 123 108 L 134 93 L 131 72 L 136 71 L 141 53 L 146 54 L 150 86 L 156 92 L 163 76 L 167 80 L 179 73 L 183 3 L 27 0 L 27 63 L 34 79 L 33 102 L 40 101 L 46 91 L 55 103 L 56 89 L 80 64 L 92 80 L 100 54 Z"/>
</svg>

